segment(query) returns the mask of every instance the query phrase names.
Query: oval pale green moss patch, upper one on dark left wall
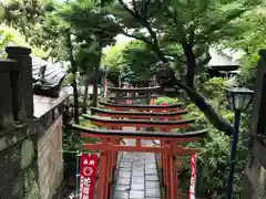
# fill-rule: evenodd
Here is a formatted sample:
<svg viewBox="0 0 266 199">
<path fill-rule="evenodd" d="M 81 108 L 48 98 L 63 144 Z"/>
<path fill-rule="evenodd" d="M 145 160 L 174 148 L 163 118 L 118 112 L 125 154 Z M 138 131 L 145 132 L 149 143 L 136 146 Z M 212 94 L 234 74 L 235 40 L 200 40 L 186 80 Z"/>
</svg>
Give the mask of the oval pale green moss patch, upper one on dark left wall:
<svg viewBox="0 0 266 199">
<path fill-rule="evenodd" d="M 31 139 L 25 139 L 21 146 L 21 169 L 30 166 L 32 159 L 34 158 L 34 148 Z"/>
</svg>

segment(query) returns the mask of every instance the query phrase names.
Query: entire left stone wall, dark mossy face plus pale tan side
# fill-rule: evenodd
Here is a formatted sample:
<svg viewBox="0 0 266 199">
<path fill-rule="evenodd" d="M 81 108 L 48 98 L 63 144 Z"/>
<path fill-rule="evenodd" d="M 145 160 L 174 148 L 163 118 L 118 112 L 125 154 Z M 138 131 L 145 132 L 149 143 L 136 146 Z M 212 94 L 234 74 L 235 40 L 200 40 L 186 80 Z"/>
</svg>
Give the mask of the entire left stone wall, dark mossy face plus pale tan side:
<svg viewBox="0 0 266 199">
<path fill-rule="evenodd" d="M 51 199 L 63 178 L 62 116 L 0 130 L 0 199 Z"/>
</svg>

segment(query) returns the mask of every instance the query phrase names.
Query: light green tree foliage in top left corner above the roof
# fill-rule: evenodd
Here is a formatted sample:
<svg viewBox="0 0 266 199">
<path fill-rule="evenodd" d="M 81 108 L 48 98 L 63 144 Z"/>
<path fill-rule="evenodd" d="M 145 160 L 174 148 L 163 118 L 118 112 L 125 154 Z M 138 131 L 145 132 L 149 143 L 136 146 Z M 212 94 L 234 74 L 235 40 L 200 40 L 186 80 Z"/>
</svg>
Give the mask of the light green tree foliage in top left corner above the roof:
<svg viewBox="0 0 266 199">
<path fill-rule="evenodd" d="M 64 40 L 57 20 L 50 15 L 62 3 L 52 0 L 9 0 L 1 3 L 3 23 L 25 36 L 31 48 L 43 50 L 53 62 L 68 60 Z"/>
</svg>

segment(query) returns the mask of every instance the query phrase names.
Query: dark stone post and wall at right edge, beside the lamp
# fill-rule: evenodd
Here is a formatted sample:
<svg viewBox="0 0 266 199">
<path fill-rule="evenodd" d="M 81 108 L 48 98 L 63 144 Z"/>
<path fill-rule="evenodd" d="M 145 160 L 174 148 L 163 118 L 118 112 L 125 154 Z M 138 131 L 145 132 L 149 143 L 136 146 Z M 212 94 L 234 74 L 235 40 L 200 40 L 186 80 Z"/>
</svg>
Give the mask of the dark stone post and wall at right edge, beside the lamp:
<svg viewBox="0 0 266 199">
<path fill-rule="evenodd" d="M 266 199 L 266 50 L 262 50 L 259 55 L 243 199 Z"/>
</svg>

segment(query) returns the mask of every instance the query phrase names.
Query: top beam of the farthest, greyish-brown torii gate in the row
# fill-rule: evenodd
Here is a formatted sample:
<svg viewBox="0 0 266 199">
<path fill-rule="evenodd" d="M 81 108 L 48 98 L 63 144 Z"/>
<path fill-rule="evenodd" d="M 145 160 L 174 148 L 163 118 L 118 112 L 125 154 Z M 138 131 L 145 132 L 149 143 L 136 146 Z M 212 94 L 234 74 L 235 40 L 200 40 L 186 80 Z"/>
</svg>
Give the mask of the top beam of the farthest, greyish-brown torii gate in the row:
<svg viewBox="0 0 266 199">
<path fill-rule="evenodd" d="M 161 86 L 154 87 L 136 87 L 136 88 L 122 88 L 122 87 L 108 87 L 112 93 L 161 93 Z"/>
</svg>

